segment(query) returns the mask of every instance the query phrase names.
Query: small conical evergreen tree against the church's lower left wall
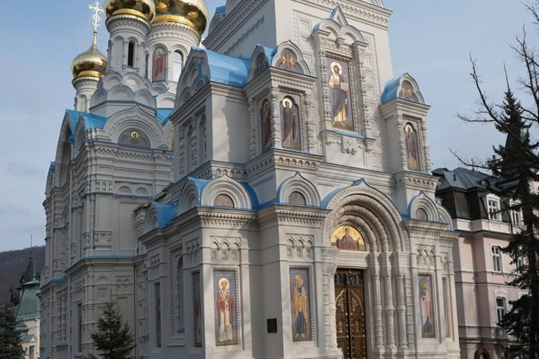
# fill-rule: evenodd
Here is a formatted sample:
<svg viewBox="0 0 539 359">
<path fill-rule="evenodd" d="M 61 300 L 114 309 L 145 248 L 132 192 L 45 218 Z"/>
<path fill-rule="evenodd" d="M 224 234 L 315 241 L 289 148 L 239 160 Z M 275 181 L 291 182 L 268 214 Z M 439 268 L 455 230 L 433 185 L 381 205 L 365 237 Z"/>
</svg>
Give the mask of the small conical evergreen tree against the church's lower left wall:
<svg viewBox="0 0 539 359">
<path fill-rule="evenodd" d="M 133 359 L 135 338 L 115 303 L 107 303 L 98 318 L 98 331 L 90 337 L 102 359 Z M 88 354 L 88 359 L 97 358 Z"/>
</svg>

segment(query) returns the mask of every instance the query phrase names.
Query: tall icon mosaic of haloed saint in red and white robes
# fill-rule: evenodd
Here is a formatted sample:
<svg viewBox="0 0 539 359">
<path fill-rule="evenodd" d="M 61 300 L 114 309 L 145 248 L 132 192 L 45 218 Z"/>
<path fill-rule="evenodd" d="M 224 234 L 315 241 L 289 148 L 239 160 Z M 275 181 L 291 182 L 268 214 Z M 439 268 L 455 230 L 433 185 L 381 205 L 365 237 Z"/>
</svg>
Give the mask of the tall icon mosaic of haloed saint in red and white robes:
<svg viewBox="0 0 539 359">
<path fill-rule="evenodd" d="M 213 272 L 215 293 L 215 345 L 238 344 L 236 273 L 234 271 Z"/>
</svg>

